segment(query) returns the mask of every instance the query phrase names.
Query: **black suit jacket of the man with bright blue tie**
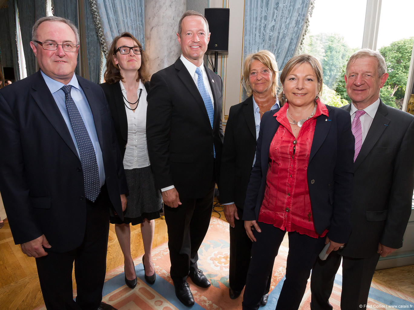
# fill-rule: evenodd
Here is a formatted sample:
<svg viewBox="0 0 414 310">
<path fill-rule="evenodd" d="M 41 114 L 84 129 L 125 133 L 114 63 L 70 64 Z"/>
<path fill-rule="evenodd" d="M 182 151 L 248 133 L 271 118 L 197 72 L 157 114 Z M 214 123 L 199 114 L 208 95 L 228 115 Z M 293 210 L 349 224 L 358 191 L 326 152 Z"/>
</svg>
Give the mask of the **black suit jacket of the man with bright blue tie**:
<svg viewBox="0 0 414 310">
<path fill-rule="evenodd" d="M 205 70 L 214 98 L 213 128 L 200 92 L 179 58 L 152 76 L 147 97 L 147 145 L 155 186 L 174 185 L 180 197 L 207 195 L 214 179 L 213 143 L 219 176 L 222 82 Z"/>
</svg>

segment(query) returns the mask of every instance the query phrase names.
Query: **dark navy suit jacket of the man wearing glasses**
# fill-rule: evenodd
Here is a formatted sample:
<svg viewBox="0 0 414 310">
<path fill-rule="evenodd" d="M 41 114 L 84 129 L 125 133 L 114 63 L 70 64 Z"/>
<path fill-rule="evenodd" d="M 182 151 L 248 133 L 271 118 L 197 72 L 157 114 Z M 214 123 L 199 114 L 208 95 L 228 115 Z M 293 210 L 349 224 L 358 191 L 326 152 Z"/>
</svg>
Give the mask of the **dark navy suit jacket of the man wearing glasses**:
<svg viewBox="0 0 414 310">
<path fill-rule="evenodd" d="M 127 193 L 122 160 L 102 88 L 80 76 L 102 150 L 105 183 L 122 217 Z M 82 166 L 40 70 L 0 91 L 0 191 L 16 244 L 44 234 L 56 252 L 83 241 L 86 200 Z"/>
</svg>

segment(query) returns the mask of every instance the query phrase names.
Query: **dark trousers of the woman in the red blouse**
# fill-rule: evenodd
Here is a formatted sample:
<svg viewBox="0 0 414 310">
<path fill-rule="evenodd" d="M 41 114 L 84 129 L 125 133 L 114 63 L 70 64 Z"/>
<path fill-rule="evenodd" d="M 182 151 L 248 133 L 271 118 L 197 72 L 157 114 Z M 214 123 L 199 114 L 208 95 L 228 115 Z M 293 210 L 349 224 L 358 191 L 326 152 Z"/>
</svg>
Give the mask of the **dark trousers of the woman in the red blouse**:
<svg viewBox="0 0 414 310">
<path fill-rule="evenodd" d="M 258 222 L 261 232 L 254 231 L 256 242 L 252 246 L 252 259 L 243 295 L 243 310 L 257 310 L 286 231 L 271 224 Z M 289 253 L 286 278 L 277 300 L 276 310 L 297 310 L 301 303 L 310 270 L 325 246 L 325 237 L 312 238 L 289 232 Z"/>
</svg>

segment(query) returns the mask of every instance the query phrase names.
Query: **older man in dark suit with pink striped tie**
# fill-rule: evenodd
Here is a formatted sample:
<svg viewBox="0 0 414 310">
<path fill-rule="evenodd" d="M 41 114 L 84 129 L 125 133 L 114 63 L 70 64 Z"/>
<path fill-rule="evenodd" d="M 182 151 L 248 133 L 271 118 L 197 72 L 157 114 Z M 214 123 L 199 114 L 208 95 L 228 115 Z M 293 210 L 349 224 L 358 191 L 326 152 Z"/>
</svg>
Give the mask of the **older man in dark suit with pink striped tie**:
<svg viewBox="0 0 414 310">
<path fill-rule="evenodd" d="M 355 136 L 352 233 L 342 250 L 315 263 L 311 309 L 332 309 L 329 297 L 342 258 L 341 309 L 366 308 L 380 256 L 402 247 L 414 188 L 414 117 L 384 105 L 388 78 L 379 52 L 363 49 L 348 61 L 345 83 Z"/>
</svg>

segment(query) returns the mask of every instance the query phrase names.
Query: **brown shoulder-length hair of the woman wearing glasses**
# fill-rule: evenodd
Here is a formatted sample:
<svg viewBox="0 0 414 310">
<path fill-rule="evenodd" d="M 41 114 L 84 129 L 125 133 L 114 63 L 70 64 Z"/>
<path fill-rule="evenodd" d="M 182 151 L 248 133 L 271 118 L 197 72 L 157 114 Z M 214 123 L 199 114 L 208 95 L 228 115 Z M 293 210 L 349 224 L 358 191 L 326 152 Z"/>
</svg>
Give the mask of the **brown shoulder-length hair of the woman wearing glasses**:
<svg viewBox="0 0 414 310">
<path fill-rule="evenodd" d="M 124 79 L 122 76 L 118 64 L 115 64 L 114 57 L 116 54 L 116 43 L 120 38 L 131 38 L 133 41 L 137 43 L 137 45 L 141 48 L 141 67 L 138 69 L 138 79 L 137 82 L 141 79 L 142 83 L 149 81 L 149 72 L 147 68 L 148 56 L 142 49 L 142 45 L 140 41 L 138 41 L 134 36 L 132 36 L 129 32 L 123 32 L 119 36 L 116 36 L 112 43 L 111 47 L 109 48 L 108 56 L 106 56 L 106 70 L 103 74 L 103 78 L 108 84 L 115 84 Z"/>
</svg>

